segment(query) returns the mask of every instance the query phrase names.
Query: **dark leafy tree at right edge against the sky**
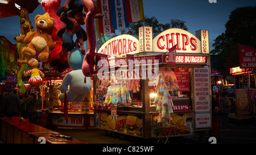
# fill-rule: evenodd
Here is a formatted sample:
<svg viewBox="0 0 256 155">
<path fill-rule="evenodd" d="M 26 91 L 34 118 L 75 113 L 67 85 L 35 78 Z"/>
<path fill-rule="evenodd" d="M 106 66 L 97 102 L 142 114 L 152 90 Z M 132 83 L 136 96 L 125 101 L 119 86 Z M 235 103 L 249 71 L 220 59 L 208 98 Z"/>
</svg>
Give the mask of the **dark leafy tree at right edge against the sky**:
<svg viewBox="0 0 256 155">
<path fill-rule="evenodd" d="M 238 44 L 256 48 L 255 17 L 255 6 L 240 7 L 230 13 L 225 32 L 216 37 L 210 51 L 221 58 L 221 74 L 229 75 L 230 68 L 239 66 Z"/>
</svg>

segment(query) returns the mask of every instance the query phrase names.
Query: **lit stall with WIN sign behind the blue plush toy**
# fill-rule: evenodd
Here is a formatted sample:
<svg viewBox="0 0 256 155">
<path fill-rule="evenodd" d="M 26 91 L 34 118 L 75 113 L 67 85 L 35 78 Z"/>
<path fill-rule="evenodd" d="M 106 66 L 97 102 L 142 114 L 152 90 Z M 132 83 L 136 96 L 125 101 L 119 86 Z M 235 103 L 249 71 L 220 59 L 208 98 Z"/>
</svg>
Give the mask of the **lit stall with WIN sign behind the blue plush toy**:
<svg viewBox="0 0 256 155">
<path fill-rule="evenodd" d="M 94 127 L 94 115 L 92 110 L 93 90 L 88 93 L 82 102 L 68 103 L 68 123 L 65 121 L 63 110 L 63 102 L 58 99 L 60 91 L 57 89 L 65 77 L 71 72 L 71 68 L 67 68 L 64 72 L 57 72 L 55 68 L 51 68 L 48 63 L 39 62 L 39 69 L 45 75 L 44 83 L 41 87 L 40 95 L 42 98 L 38 104 L 38 115 L 40 123 L 45 126 L 47 124 L 57 127 L 69 128 L 87 128 Z"/>
</svg>

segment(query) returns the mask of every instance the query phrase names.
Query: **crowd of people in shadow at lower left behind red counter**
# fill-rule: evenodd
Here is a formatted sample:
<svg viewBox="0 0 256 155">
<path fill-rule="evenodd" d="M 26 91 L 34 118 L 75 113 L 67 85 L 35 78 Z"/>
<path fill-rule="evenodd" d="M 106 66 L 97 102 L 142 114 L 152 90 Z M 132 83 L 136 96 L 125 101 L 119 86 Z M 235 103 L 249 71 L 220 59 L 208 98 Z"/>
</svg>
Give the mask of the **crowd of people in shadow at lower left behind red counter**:
<svg viewBox="0 0 256 155">
<path fill-rule="evenodd" d="M 35 93 L 16 95 L 13 89 L 0 93 L 0 118 L 22 117 L 37 124 L 38 99 Z"/>
</svg>

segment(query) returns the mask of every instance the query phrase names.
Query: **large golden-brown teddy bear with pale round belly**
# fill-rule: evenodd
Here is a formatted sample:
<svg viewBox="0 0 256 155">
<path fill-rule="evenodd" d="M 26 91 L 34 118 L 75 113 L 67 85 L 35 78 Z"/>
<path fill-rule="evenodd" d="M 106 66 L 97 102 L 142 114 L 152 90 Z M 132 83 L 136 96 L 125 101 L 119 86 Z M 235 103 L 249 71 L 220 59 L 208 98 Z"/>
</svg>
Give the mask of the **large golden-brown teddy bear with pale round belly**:
<svg viewBox="0 0 256 155">
<path fill-rule="evenodd" d="M 38 60 L 48 62 L 49 49 L 53 48 L 55 43 L 51 38 L 54 19 L 49 14 L 35 16 L 36 31 L 26 36 L 24 41 L 28 46 L 22 50 L 22 55 L 26 58 L 35 57 L 39 53 Z"/>
</svg>

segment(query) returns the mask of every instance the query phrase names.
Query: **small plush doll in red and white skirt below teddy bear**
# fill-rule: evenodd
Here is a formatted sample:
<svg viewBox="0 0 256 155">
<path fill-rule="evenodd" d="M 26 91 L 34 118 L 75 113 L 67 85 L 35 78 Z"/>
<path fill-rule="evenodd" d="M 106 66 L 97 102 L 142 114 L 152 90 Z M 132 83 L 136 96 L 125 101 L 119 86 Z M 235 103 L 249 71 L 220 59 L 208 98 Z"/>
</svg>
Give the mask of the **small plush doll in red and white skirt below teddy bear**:
<svg viewBox="0 0 256 155">
<path fill-rule="evenodd" d="M 32 87 L 36 87 L 36 91 L 40 91 L 40 85 L 43 83 L 44 74 L 41 70 L 38 69 L 38 60 L 35 58 L 31 58 L 30 61 L 28 61 L 28 66 L 32 68 L 31 70 L 28 70 L 26 73 L 24 73 L 24 77 L 27 77 L 29 74 L 31 74 L 30 79 L 28 80 L 28 84 L 30 84 L 29 87 L 27 87 L 28 90 L 30 90 Z"/>
</svg>

